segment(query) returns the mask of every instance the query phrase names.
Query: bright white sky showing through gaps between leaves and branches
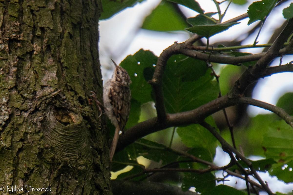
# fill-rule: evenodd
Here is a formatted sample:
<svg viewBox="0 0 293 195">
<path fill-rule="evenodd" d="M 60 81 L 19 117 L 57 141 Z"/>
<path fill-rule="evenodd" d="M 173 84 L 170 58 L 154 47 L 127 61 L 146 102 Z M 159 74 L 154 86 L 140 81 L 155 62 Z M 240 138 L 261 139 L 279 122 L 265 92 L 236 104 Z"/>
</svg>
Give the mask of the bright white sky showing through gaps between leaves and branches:
<svg viewBox="0 0 293 195">
<path fill-rule="evenodd" d="M 249 4 L 252 3 L 251 0 L 248 0 Z M 167 48 L 175 41 L 184 42 L 188 39 L 189 35 L 187 32 L 176 32 L 176 33 L 166 33 L 166 32 L 150 32 L 147 30 L 140 29 L 143 19 L 151 13 L 151 10 L 154 9 L 160 0 L 146 0 L 143 3 L 137 4 L 133 8 L 128 8 L 125 11 L 120 12 L 119 14 L 110 18 L 110 20 L 100 21 L 100 62 L 102 64 L 102 73 L 104 80 L 107 80 L 112 75 L 113 64 L 110 61 L 110 58 L 114 59 L 118 64 L 130 54 L 134 54 L 139 49 L 149 49 L 154 52 L 157 56 L 161 54 L 163 49 Z M 212 0 L 197 0 L 201 7 L 206 12 L 216 12 L 216 7 L 214 6 Z M 276 27 L 279 27 L 284 20 L 282 16 L 282 9 L 289 6 L 290 2 L 283 4 L 282 7 L 277 8 L 273 13 L 269 15 L 273 17 L 274 20 L 272 23 L 265 23 L 262 32 L 272 32 Z M 223 4 L 222 11 L 227 4 Z M 241 6 L 236 6 L 231 4 L 229 10 L 224 18 L 224 21 L 234 18 L 238 15 L 246 13 L 246 8 Z M 197 15 L 194 11 L 185 8 L 185 12 L 188 17 L 194 17 Z M 229 30 L 224 33 L 217 34 L 210 39 L 210 43 L 216 42 L 218 40 L 230 40 L 231 38 L 238 37 L 241 34 L 241 29 L 251 29 L 255 24 L 247 26 L 248 19 L 242 20 L 241 24 L 231 27 Z M 248 31 L 248 30 L 247 30 Z M 229 35 L 229 36 L 228 36 Z M 227 38 L 226 38 L 227 37 Z M 248 39 L 243 44 L 253 44 L 256 34 L 251 36 L 251 39 Z M 259 44 L 266 43 L 270 36 L 266 36 L 265 33 L 261 33 L 258 41 Z M 262 49 L 253 49 L 253 50 L 243 50 L 250 53 L 259 53 Z M 283 64 L 292 61 L 293 57 L 284 57 Z M 274 65 L 278 65 L 279 60 L 274 62 Z M 253 91 L 253 98 L 265 101 L 275 105 L 277 100 L 286 92 L 293 92 L 293 73 L 281 73 L 272 75 L 261 79 Z M 248 111 L 250 115 L 254 116 L 259 113 L 268 113 L 264 109 L 249 106 Z M 224 152 L 221 149 L 217 149 L 217 156 L 215 158 L 215 163 L 226 165 L 229 163 L 229 156 L 226 158 Z M 226 162 L 225 159 L 228 161 Z M 222 164 L 221 164 L 222 165 Z M 293 184 L 287 185 L 283 182 L 276 182 L 277 178 L 270 177 L 268 173 L 261 174 L 265 180 L 269 182 L 270 188 L 275 191 L 289 192 L 293 189 Z M 229 178 L 231 182 L 229 185 L 234 186 L 236 179 Z M 244 188 L 245 182 L 237 180 L 238 187 Z"/>
</svg>

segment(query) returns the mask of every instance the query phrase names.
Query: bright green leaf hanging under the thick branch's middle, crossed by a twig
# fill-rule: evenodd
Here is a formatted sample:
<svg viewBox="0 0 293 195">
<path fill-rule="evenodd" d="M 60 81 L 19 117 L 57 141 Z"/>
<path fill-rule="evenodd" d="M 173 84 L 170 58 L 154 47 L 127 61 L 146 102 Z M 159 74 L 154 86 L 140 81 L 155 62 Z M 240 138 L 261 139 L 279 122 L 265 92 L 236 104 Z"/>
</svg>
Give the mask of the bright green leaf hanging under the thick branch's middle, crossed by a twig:
<svg viewBox="0 0 293 195">
<path fill-rule="evenodd" d="M 212 116 L 206 118 L 206 121 L 216 127 Z M 178 127 L 177 133 L 182 142 L 190 148 L 204 148 L 209 151 L 210 159 L 214 158 L 217 147 L 217 139 L 204 127 L 199 124 Z"/>
</svg>

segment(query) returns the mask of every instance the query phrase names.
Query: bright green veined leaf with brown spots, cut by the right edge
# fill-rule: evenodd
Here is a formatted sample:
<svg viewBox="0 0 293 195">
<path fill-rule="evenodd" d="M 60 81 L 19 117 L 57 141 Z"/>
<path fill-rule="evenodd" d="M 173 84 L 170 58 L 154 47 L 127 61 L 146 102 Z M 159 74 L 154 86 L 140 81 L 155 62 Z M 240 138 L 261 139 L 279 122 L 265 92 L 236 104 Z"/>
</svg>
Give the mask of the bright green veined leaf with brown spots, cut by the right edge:
<svg viewBox="0 0 293 195">
<path fill-rule="evenodd" d="M 293 130 L 285 121 L 276 121 L 270 125 L 263 137 L 265 156 L 278 162 L 293 158 Z"/>
</svg>

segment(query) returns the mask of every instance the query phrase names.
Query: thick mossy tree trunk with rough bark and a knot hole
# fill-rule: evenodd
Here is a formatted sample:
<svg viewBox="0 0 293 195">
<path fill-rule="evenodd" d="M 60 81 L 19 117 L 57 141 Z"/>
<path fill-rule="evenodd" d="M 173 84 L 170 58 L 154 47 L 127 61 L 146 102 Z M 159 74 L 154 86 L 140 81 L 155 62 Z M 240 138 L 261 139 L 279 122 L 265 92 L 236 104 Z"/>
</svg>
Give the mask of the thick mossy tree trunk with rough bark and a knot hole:
<svg viewBox="0 0 293 195">
<path fill-rule="evenodd" d="M 111 194 L 99 3 L 0 2 L 1 193 Z"/>
</svg>

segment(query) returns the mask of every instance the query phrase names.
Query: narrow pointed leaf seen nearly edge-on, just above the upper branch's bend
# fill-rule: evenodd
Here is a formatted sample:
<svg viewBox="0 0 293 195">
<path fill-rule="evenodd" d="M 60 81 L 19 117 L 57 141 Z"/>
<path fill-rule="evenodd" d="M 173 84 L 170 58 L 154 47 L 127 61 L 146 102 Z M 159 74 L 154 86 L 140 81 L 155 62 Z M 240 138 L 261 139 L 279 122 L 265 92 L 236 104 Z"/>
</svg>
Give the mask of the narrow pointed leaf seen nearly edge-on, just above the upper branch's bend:
<svg viewBox="0 0 293 195">
<path fill-rule="evenodd" d="M 213 35 L 228 30 L 231 26 L 239 24 L 237 22 L 225 23 L 225 24 L 206 24 L 206 25 L 196 25 L 187 28 L 189 32 L 196 33 L 202 37 L 212 37 Z"/>
</svg>

